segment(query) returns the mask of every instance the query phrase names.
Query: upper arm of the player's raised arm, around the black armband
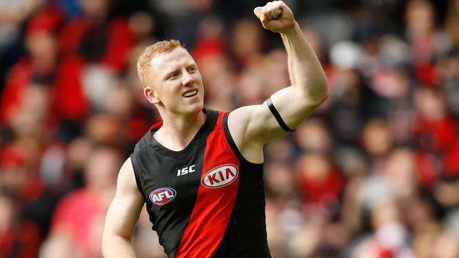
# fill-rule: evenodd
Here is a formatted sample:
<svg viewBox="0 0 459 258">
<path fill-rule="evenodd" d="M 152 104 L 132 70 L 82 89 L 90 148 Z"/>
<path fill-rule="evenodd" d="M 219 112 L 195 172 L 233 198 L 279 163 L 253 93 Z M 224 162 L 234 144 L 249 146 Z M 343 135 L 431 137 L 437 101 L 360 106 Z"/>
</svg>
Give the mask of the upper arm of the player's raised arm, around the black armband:
<svg viewBox="0 0 459 258">
<path fill-rule="evenodd" d="M 294 129 L 317 109 L 323 99 L 306 95 L 304 91 L 290 86 L 275 92 L 271 101 L 285 124 Z M 254 162 L 263 161 L 260 154 L 266 142 L 287 134 L 265 102 L 242 106 L 229 113 L 228 127 L 239 151 Z"/>
</svg>

